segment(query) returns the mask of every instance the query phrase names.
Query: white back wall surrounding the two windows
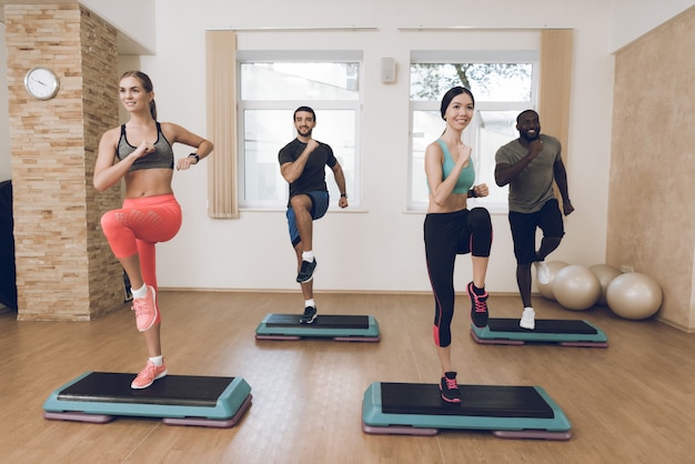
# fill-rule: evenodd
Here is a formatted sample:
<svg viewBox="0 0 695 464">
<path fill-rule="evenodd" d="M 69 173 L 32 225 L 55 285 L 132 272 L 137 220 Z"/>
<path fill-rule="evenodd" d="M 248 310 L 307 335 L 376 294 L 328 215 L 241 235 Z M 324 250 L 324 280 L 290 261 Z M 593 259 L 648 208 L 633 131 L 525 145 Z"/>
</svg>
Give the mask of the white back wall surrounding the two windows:
<svg viewBox="0 0 695 464">
<path fill-rule="evenodd" d="M 576 29 L 572 107 L 575 123 L 565 148 L 576 212 L 567 219 L 565 243 L 552 258 L 587 265 L 604 261 L 613 82 L 612 58 L 606 51 L 610 9 L 602 0 L 582 6 L 557 3 L 497 0 L 464 6 L 461 1 L 435 1 L 423 8 L 422 2 L 413 0 L 360 0 L 344 8 L 341 1 L 261 0 L 249 8 L 239 1 L 192 4 L 167 0 L 157 3 L 158 54 L 143 57 L 141 62 L 154 80 L 162 119 L 204 133 L 204 30 L 379 28 L 377 32 L 241 32 L 239 48 L 364 50 L 364 212 L 329 213 L 315 223 L 315 289 L 427 291 L 424 214 L 404 212 L 410 50 L 528 48 L 537 47 L 537 38 L 524 30 L 401 32 L 399 27 Z M 395 84 L 380 82 L 382 57 L 393 57 L 399 63 Z M 178 153 L 185 154 L 185 148 L 179 148 Z M 162 286 L 296 289 L 294 254 L 282 211 L 242 211 L 241 219 L 231 221 L 208 219 L 207 176 L 202 169 L 175 175 L 174 189 L 184 209 L 184 224 L 174 240 L 159 246 Z M 487 288 L 516 292 L 506 215 L 495 215 L 493 226 Z M 470 279 L 470 259 L 462 256 L 457 286 L 463 289 Z"/>
</svg>

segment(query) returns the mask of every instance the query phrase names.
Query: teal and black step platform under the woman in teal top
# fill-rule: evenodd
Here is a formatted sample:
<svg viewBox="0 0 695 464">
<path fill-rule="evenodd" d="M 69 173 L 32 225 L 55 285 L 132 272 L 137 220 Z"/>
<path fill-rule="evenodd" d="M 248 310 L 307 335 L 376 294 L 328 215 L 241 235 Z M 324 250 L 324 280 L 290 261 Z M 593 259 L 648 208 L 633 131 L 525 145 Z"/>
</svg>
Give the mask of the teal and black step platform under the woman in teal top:
<svg viewBox="0 0 695 464">
<path fill-rule="evenodd" d="M 459 404 L 440 386 L 372 383 L 362 402 L 362 430 L 381 435 L 436 435 L 440 430 L 491 431 L 501 438 L 566 441 L 570 421 L 540 386 L 459 385 Z"/>
</svg>

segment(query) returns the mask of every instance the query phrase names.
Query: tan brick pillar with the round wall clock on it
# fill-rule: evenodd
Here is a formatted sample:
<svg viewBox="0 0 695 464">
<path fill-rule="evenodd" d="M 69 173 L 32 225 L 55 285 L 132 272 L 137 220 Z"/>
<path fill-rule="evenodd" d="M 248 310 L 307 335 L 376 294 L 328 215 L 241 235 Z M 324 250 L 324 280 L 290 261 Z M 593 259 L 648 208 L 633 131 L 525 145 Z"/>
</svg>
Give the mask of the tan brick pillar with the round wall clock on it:
<svg viewBox="0 0 695 464">
<path fill-rule="evenodd" d="M 122 270 L 99 225 L 119 189 L 92 186 L 99 138 L 118 125 L 117 31 L 79 4 L 6 6 L 20 320 L 88 321 L 122 307 Z M 31 68 L 58 95 L 32 99 Z"/>
</svg>

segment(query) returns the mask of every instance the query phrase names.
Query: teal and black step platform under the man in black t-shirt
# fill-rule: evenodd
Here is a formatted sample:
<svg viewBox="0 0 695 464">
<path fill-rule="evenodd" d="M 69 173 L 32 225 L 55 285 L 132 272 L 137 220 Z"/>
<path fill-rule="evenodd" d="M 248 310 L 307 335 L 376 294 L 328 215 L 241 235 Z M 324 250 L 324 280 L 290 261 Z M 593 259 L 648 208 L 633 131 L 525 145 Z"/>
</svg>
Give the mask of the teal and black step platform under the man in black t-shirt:
<svg viewBox="0 0 695 464">
<path fill-rule="evenodd" d="M 338 342 L 379 342 L 379 322 L 371 315 L 319 314 L 301 324 L 301 314 L 266 314 L 255 330 L 256 340 L 328 337 Z"/>
</svg>

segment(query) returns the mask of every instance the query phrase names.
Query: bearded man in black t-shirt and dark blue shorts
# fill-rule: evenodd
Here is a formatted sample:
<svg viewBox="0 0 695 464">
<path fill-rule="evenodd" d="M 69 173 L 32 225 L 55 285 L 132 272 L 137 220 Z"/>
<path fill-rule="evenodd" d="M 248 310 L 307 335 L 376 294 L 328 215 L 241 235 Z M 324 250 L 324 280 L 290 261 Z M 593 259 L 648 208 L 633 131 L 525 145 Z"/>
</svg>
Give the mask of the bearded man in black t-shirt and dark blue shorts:
<svg viewBox="0 0 695 464">
<path fill-rule="evenodd" d="M 338 205 L 348 208 L 345 175 L 333 155 L 333 150 L 325 143 L 312 139 L 316 125 L 314 110 L 300 107 L 294 111 L 296 139 L 288 143 L 278 154 L 280 172 L 290 183 L 288 201 L 288 225 L 290 239 L 296 253 L 296 282 L 304 295 L 303 324 L 311 324 L 316 319 L 316 304 L 313 299 L 313 273 L 316 259 L 313 253 L 313 221 L 322 218 L 329 209 L 329 190 L 325 183 L 325 167 L 333 171 L 335 183 L 341 192 Z"/>
</svg>

